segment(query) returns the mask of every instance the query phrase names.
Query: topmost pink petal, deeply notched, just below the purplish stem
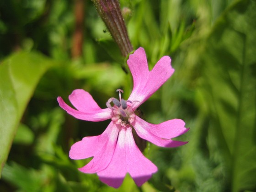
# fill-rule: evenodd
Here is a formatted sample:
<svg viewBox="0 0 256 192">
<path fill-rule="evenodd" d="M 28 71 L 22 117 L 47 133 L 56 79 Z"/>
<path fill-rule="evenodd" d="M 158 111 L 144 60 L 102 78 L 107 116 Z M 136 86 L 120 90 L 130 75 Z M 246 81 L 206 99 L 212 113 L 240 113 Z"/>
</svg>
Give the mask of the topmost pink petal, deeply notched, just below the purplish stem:
<svg viewBox="0 0 256 192">
<path fill-rule="evenodd" d="M 149 71 L 146 53 L 143 48 L 138 48 L 131 54 L 127 64 L 133 75 L 133 91 L 128 100 L 139 101 L 134 102 L 134 109 L 146 101 L 174 73 L 169 56 L 162 57 L 155 64 L 155 67 Z"/>
</svg>

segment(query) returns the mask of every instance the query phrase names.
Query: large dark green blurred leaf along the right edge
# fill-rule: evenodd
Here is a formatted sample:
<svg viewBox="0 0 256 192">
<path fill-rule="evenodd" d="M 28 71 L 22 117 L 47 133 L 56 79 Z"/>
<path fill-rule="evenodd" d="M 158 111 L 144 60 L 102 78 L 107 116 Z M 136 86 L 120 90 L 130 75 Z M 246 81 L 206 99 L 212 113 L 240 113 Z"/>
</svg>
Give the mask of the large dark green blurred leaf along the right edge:
<svg viewBox="0 0 256 192">
<path fill-rule="evenodd" d="M 217 20 L 204 52 L 204 96 L 233 192 L 256 189 L 256 1 Z"/>
</svg>

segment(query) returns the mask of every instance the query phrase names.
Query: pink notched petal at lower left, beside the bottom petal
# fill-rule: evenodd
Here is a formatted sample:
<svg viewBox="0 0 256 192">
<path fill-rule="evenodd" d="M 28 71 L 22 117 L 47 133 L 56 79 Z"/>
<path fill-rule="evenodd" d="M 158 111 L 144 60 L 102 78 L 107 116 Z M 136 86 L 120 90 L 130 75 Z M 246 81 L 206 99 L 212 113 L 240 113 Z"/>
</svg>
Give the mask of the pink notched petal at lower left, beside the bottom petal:
<svg viewBox="0 0 256 192">
<path fill-rule="evenodd" d="M 110 123 L 107 129 L 98 136 L 85 137 L 72 145 L 69 151 L 71 159 L 93 159 L 79 170 L 84 173 L 96 173 L 107 167 L 112 159 L 118 136 L 119 128 L 115 123 Z"/>
</svg>

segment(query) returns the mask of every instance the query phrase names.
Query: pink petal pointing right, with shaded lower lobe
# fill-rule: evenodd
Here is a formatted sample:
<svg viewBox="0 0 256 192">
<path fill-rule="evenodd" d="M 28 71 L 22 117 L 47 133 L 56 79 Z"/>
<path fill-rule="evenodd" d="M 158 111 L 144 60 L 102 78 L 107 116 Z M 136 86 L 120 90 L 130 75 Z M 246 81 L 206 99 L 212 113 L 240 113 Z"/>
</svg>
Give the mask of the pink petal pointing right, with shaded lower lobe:
<svg viewBox="0 0 256 192">
<path fill-rule="evenodd" d="M 187 144 L 184 141 L 175 141 L 171 138 L 186 133 L 189 129 L 185 128 L 185 123 L 181 119 L 172 119 L 160 124 L 151 124 L 136 116 L 133 127 L 142 139 L 160 147 L 178 147 Z"/>
</svg>

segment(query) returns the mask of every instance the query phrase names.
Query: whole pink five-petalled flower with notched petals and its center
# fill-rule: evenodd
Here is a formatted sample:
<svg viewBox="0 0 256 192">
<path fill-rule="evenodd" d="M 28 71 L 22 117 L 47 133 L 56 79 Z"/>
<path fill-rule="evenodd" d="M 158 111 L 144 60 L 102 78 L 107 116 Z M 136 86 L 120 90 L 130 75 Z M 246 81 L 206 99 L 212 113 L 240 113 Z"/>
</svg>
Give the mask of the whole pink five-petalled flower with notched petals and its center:
<svg viewBox="0 0 256 192">
<path fill-rule="evenodd" d="M 181 119 L 172 119 L 160 124 L 147 123 L 136 116 L 134 111 L 157 91 L 171 77 L 171 58 L 162 57 L 149 71 L 146 54 L 138 48 L 127 61 L 133 75 L 133 91 L 128 100 L 110 98 L 107 108 L 101 109 L 92 96 L 81 89 L 69 95 L 69 100 L 77 109 L 69 107 L 61 97 L 59 105 L 70 115 L 86 121 L 112 119 L 107 129 L 98 136 L 85 137 L 72 145 L 69 157 L 74 160 L 93 157 L 79 170 L 84 173 L 97 173 L 99 179 L 109 186 L 118 188 L 127 173 L 138 186 L 149 180 L 157 167 L 140 152 L 134 142 L 132 129 L 139 137 L 160 147 L 178 147 L 187 142 L 172 140 L 188 131 Z M 111 104 L 112 103 L 112 104 Z"/>
</svg>

